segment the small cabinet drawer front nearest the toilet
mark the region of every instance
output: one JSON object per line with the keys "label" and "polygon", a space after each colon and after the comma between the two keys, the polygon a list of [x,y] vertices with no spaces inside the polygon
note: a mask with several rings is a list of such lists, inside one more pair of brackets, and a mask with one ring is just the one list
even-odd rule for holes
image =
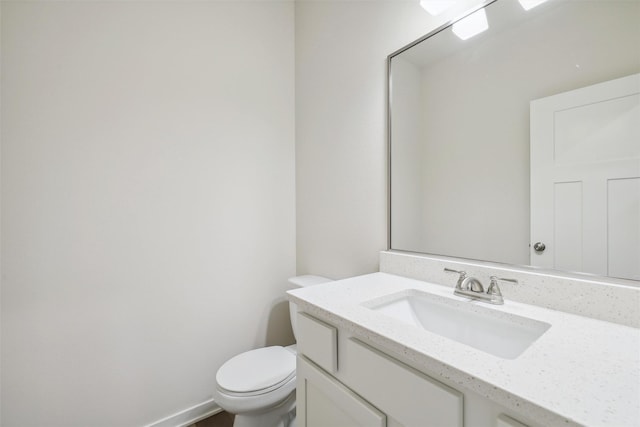
{"label": "small cabinet drawer front nearest the toilet", "polygon": [[306,313],[298,313],[298,353],[327,372],[338,370],[338,330]]}

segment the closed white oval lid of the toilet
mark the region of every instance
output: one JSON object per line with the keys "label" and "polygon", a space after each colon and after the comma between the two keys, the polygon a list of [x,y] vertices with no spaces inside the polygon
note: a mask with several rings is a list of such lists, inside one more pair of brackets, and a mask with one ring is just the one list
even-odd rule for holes
{"label": "closed white oval lid of the toilet", "polygon": [[218,386],[236,393],[273,387],[293,375],[296,357],[284,347],[264,347],[229,359],[216,374]]}

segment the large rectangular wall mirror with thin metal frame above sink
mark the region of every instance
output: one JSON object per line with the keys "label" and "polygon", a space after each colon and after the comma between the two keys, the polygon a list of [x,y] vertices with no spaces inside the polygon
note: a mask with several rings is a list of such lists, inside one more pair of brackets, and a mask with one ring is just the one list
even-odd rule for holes
{"label": "large rectangular wall mirror with thin metal frame above sink", "polygon": [[640,1],[523,3],[389,56],[390,249],[640,280]]}

